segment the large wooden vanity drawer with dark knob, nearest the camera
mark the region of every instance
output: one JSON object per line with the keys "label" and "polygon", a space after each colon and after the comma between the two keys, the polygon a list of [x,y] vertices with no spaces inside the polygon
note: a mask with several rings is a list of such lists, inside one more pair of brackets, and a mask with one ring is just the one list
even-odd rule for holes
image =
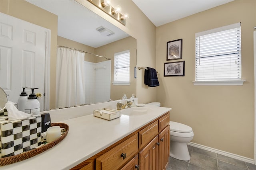
{"label": "large wooden vanity drawer with dark knob, nearest the camera", "polygon": [[96,158],[96,170],[117,170],[138,152],[138,134]]}

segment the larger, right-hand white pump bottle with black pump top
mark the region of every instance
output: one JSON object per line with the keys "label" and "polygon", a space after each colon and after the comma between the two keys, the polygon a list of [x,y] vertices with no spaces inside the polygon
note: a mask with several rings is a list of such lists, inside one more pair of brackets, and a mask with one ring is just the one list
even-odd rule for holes
{"label": "larger, right-hand white pump bottle with black pump top", "polygon": [[37,100],[36,94],[34,94],[35,89],[38,89],[38,88],[31,88],[32,93],[28,97],[24,110],[25,110],[25,113],[40,115],[40,103]]}

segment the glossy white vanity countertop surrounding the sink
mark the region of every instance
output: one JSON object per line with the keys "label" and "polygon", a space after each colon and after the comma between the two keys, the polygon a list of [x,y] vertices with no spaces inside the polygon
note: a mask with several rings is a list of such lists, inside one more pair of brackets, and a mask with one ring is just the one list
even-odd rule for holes
{"label": "glossy white vanity countertop surrounding the sink", "polygon": [[122,115],[111,121],[94,117],[93,114],[60,121],[69,126],[69,132],[58,145],[0,169],[68,170],[171,110],[168,107],[146,107],[151,108],[147,114]]}

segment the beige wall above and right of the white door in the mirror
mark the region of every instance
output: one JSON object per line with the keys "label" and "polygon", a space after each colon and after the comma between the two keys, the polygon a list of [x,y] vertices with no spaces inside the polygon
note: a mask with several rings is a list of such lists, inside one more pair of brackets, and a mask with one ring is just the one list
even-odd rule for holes
{"label": "beige wall above and right of the white door in the mirror", "polygon": [[51,30],[50,52],[50,108],[55,107],[56,45],[58,16],[24,0],[1,0],[0,12]]}

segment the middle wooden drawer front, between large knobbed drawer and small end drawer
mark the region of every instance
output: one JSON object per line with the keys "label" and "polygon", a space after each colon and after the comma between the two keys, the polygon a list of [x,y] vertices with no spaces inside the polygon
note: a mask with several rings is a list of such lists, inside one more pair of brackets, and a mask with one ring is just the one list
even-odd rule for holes
{"label": "middle wooden drawer front, between large knobbed drawer and small end drawer", "polygon": [[139,131],[139,149],[148,144],[156,135],[158,135],[158,121]]}

